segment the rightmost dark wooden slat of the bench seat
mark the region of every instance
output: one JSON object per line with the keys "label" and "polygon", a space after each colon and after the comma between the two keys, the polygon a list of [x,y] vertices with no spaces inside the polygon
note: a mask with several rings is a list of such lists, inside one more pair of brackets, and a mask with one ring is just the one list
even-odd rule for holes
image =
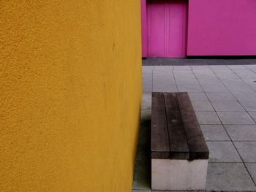
{"label": "rightmost dark wooden slat of the bench seat", "polygon": [[187,93],[176,93],[189,145],[189,160],[208,159],[209,151]]}

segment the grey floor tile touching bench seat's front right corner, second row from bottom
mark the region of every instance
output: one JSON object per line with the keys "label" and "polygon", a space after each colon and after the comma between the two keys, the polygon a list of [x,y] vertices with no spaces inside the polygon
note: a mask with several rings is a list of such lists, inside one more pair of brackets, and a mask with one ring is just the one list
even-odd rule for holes
{"label": "grey floor tile touching bench seat's front right corner, second row from bottom", "polygon": [[232,142],[207,142],[207,145],[210,151],[209,162],[241,162]]}

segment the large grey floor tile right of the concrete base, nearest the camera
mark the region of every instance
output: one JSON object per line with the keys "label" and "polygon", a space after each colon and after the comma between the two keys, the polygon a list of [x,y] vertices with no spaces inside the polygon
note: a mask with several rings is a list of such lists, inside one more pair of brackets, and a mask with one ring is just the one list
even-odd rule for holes
{"label": "large grey floor tile right of the concrete base, nearest the camera", "polygon": [[244,164],[208,164],[207,191],[253,191],[256,190]]}

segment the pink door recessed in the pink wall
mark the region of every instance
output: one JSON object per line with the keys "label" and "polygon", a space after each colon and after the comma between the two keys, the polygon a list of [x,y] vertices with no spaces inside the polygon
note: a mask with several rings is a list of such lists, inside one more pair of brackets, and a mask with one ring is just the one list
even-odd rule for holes
{"label": "pink door recessed in the pink wall", "polygon": [[187,1],[149,1],[148,57],[186,57]]}

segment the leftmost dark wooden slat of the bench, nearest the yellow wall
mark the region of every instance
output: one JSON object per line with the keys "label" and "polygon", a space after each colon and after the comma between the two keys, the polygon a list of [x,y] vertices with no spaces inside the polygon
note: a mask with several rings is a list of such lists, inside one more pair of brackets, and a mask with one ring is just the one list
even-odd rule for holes
{"label": "leftmost dark wooden slat of the bench, nearest the yellow wall", "polygon": [[152,93],[151,158],[169,158],[170,145],[163,93]]}

